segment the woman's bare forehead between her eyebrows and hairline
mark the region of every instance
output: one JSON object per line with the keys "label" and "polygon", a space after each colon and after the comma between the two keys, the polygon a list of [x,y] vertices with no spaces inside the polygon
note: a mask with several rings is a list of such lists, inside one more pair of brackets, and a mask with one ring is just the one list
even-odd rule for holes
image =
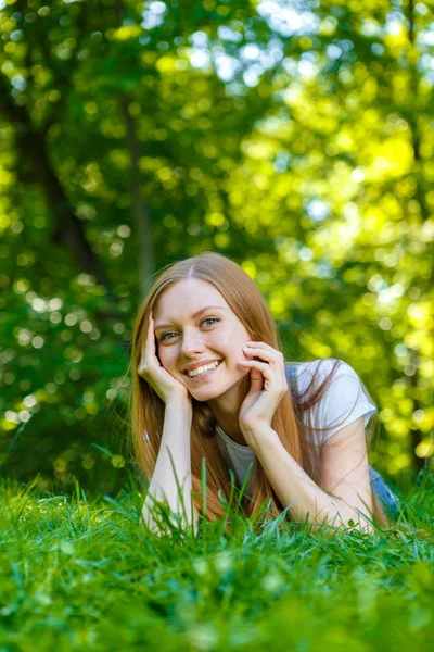
{"label": "woman's bare forehead between her eyebrows and hairline", "polygon": [[206,305],[221,305],[229,310],[220,292],[206,280],[189,278],[170,286],[158,297],[154,313],[155,318],[165,319],[190,316]]}

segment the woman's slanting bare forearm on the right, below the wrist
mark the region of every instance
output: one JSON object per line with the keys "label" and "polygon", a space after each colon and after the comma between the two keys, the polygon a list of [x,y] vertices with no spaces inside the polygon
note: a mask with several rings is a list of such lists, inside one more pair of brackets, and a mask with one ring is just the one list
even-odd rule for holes
{"label": "woman's slanting bare forearm on the right, below the wrist", "polygon": [[285,450],[275,430],[261,432],[257,442],[255,454],[283,507],[291,505],[289,512],[295,521],[304,523],[307,516],[312,530],[319,529],[318,524],[324,518],[334,529],[347,526],[349,519],[360,522],[363,529],[371,529],[356,510],[318,487]]}

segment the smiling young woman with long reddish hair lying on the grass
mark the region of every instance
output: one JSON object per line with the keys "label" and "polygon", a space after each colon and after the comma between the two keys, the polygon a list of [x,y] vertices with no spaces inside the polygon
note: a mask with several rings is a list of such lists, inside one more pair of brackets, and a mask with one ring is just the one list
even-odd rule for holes
{"label": "smiling young woman with long reddish hair lying on the grass", "polygon": [[153,499],[182,513],[182,498],[187,523],[193,499],[196,524],[203,457],[209,519],[225,515],[229,469],[241,487],[253,463],[247,515],[269,499],[267,517],[289,507],[312,529],[387,526],[379,497],[396,502],[368,465],[375,406],[363,385],[340,360],[285,363],[263,296],[234,262],[206,252],[166,268],[139,310],[132,355],[133,449],[150,480],[151,527]]}

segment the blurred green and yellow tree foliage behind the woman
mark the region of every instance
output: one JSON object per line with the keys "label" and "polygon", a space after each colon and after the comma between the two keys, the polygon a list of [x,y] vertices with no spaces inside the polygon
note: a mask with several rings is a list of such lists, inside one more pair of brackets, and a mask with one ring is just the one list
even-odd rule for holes
{"label": "blurred green and yellow tree foliage behind the woman", "polygon": [[356,368],[371,462],[422,468],[430,3],[1,4],[3,475],[123,485],[133,313],[158,268],[212,249],[256,280],[288,360]]}

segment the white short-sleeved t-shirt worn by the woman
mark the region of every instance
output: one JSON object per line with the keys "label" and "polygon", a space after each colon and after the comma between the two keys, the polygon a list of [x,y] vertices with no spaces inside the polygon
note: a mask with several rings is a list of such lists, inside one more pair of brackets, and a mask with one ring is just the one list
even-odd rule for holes
{"label": "white short-sleeved t-shirt worn by the woman", "polygon": [[[298,393],[309,386],[315,371],[319,366],[316,380],[318,387],[328,376],[334,365],[334,360],[314,360],[296,365]],[[328,386],[322,398],[303,415],[306,428],[306,439],[315,442],[320,450],[321,446],[334,432],[353,423],[360,416],[365,416],[365,427],[371,416],[375,413],[375,405],[368,400],[362,390],[360,379],[354,368],[340,360],[340,364],[334,373],[333,379]],[[341,423],[342,422],[342,423]],[[311,428],[327,428],[326,430],[315,431]],[[235,484],[241,488],[248,465],[254,462],[255,454],[248,446],[241,446],[232,441],[230,437],[217,425],[217,441],[229,461],[229,468],[232,468],[235,476]],[[253,468],[247,481],[245,493],[252,497],[253,493]]]}

